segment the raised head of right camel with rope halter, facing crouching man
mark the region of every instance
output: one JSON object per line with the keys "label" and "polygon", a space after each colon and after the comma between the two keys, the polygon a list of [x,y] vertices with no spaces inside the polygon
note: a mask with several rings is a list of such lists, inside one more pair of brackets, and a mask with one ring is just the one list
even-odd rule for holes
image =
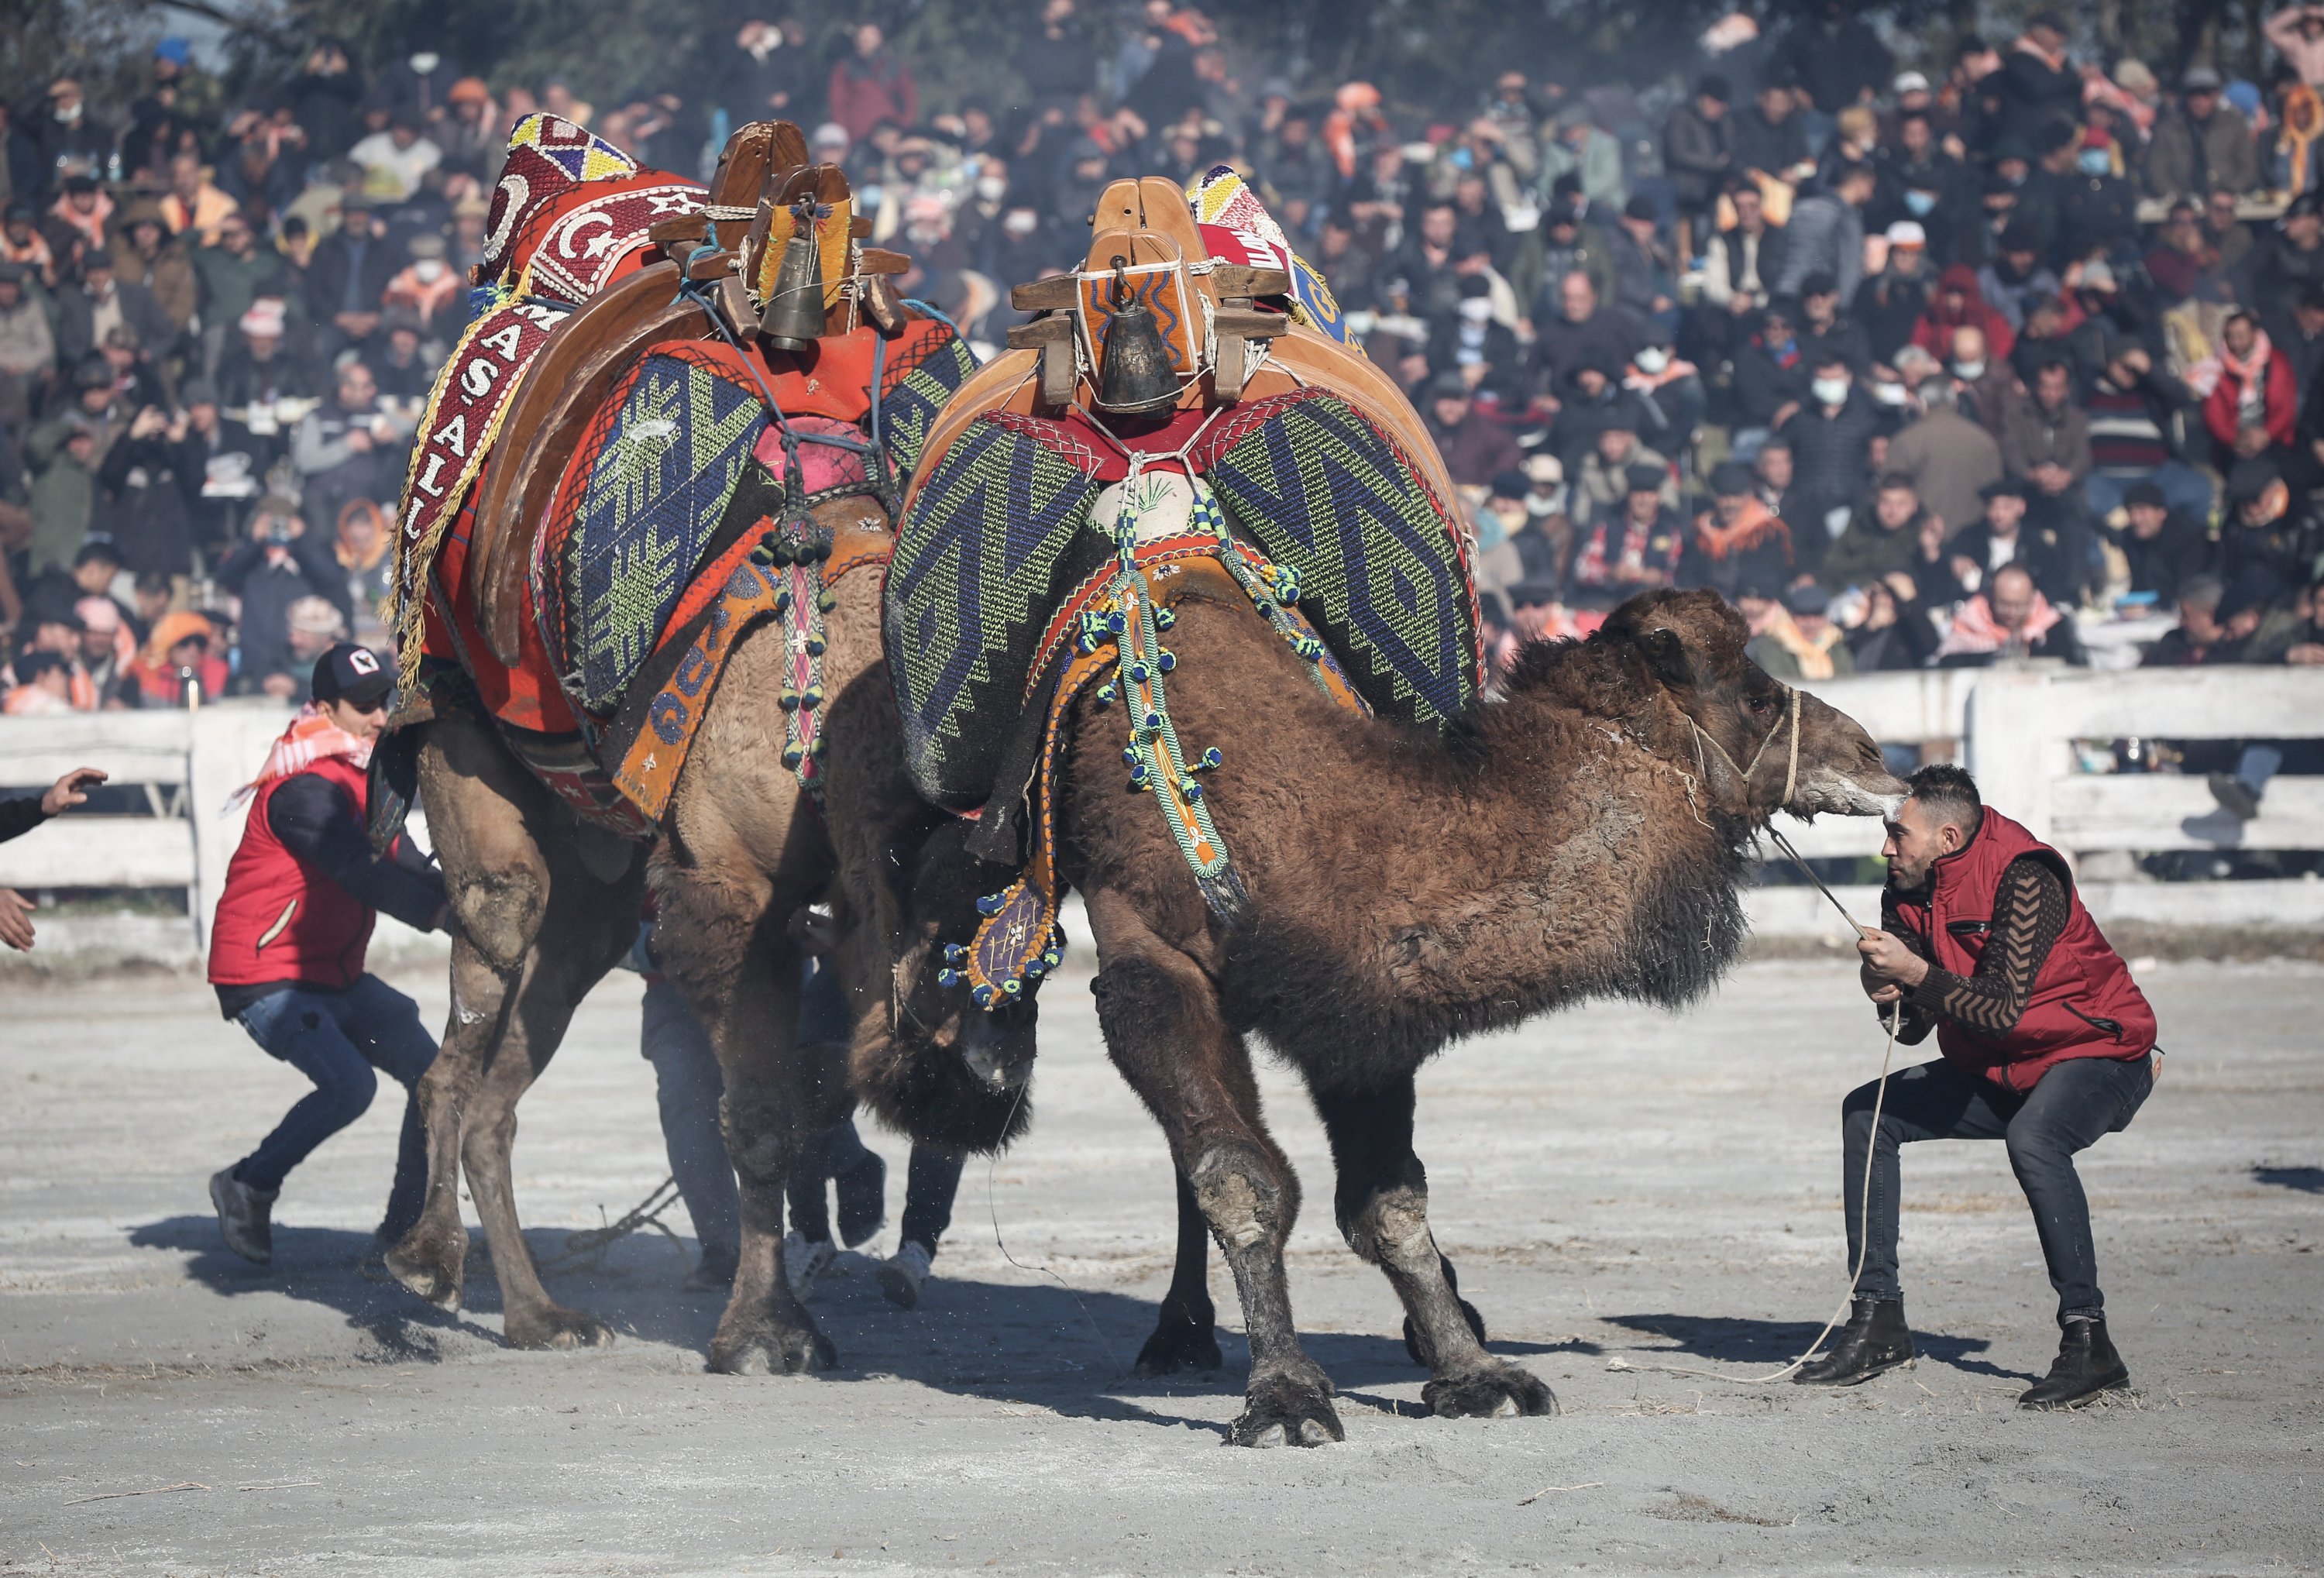
{"label": "raised head of right camel with rope halter, facing crouching man", "polygon": [[1699,732],[1703,772],[1724,811],[1885,816],[1906,786],[1848,713],[1773,681],[1743,646],[1743,616],[1710,590],[1643,593],[1606,618]]}

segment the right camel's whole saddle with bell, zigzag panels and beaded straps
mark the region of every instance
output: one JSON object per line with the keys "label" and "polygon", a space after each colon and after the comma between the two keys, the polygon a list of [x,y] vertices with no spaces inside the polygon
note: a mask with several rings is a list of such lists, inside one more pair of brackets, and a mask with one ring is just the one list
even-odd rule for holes
{"label": "right camel's whole saddle with bell, zigzag panels and beaded straps", "polygon": [[1116,181],[1092,230],[1078,270],[1016,288],[1039,316],[930,428],[885,583],[913,783],[1020,867],[948,955],[988,1009],[1060,951],[1048,783],[1083,688],[1204,899],[1227,923],[1243,904],[1202,797],[1215,755],[1169,718],[1181,600],[1255,609],[1355,711],[1443,727],[1483,688],[1443,458],[1257,198],[1232,170],[1192,202]]}

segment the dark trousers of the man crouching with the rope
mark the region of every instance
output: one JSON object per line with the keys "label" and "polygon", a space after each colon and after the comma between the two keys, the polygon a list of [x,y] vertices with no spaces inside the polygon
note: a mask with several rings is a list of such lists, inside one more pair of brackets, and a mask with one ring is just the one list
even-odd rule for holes
{"label": "dark trousers of the man crouching with the rope", "polygon": [[[1864,1255],[1862,1299],[1903,1297],[1896,1281],[1896,1148],[1915,1139],[1999,1139],[2010,1148],[2010,1171],[2033,1206],[2040,1253],[2057,1287],[2057,1318],[2103,1315],[2099,1253],[2089,1241],[2089,1202],[2073,1171],[2073,1153],[2131,1122],[2154,1088],[2147,1060],[2073,1057],[2052,1067],[2033,1090],[2015,1092],[1945,1060],[1892,1074],[1873,1134],[1880,1083],[1857,1085],[1841,1102],[1845,1139],[1848,1264]],[[1857,1232],[1864,1220],[1864,1167],[1871,1164],[1871,1248]]]}

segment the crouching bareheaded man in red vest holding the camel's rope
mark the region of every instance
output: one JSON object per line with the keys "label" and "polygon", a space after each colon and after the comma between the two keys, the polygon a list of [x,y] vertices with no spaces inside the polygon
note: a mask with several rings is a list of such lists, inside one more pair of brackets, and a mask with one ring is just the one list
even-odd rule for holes
{"label": "crouching bareheaded man in red vest holding the camel's rope", "polygon": [[[2033,1206],[2057,1322],[2050,1376],[2022,1408],[2071,1408],[2129,1385],[2106,1336],[2106,1297],[2089,1202],[2073,1153],[2129,1125],[2154,1088],[2154,1009],[2073,890],[2066,860],[1985,806],[1959,767],[1922,767],[1887,825],[1880,930],[1866,934],[1864,990],[1882,1020],[1901,1004],[1899,1041],[1936,1030],[1938,1062],[1887,1083],[1880,1129],[1862,1085],[1841,1104],[1848,1260],[1864,1276],[1838,1346],[1799,1371],[1806,1385],[1857,1385],[1913,1362],[1896,1281],[1896,1146],[1999,1139]],[[1871,1243],[1859,1243],[1871,1167]]]}

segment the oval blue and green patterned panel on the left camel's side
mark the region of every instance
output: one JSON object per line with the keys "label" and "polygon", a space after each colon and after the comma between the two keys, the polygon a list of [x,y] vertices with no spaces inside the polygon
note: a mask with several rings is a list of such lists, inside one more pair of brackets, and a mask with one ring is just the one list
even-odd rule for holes
{"label": "oval blue and green patterned panel on the left camel's side", "polygon": [[618,704],[653,653],[765,428],[755,388],[667,351],[639,356],[597,409],[558,488],[565,541],[541,576],[590,711]]}

